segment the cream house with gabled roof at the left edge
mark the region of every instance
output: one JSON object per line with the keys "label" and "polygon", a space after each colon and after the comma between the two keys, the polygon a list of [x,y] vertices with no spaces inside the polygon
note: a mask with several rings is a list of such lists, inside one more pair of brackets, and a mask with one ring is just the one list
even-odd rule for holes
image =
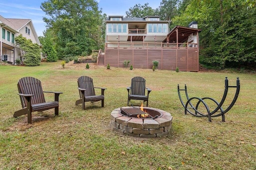
{"label": "cream house with gabled roof at the left edge", "polygon": [[40,45],[32,20],[0,16],[0,61],[14,65],[16,59],[21,59],[20,49],[14,42],[14,38],[20,34]]}

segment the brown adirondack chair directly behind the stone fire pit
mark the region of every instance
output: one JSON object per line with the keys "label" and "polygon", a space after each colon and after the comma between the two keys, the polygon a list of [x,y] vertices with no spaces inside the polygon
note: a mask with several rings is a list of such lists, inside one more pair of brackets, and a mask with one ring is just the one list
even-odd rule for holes
{"label": "brown adirondack chair directly behind the stone fire pit", "polygon": [[[128,91],[128,102],[131,99],[134,100],[143,100],[144,102],[147,101],[148,107],[148,95],[151,92],[150,88],[146,87],[146,80],[143,77],[133,77],[131,82],[131,87],[126,88]],[[145,89],[148,91],[148,95],[145,95]]]}

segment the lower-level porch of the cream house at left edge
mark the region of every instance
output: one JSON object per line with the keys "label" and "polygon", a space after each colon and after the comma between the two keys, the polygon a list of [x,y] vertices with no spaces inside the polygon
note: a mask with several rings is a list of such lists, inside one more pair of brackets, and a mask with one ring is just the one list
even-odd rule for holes
{"label": "lower-level porch of the cream house at left edge", "polygon": [[0,61],[1,62],[7,62],[9,64],[15,64],[15,52],[14,52],[14,47],[6,44],[6,43],[1,43],[0,45],[0,49],[1,49],[1,57],[0,57]]}

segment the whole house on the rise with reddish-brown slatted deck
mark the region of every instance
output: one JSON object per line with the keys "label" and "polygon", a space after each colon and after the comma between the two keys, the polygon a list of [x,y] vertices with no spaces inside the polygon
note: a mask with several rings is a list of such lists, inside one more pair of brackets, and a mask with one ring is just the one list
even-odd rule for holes
{"label": "whole house on the rise with reddish-brown slatted deck", "polygon": [[134,68],[152,69],[152,61],[158,61],[158,69],[198,71],[197,22],[189,27],[176,26],[169,31],[170,21],[160,16],[143,18],[106,18],[106,43],[104,54],[98,57],[98,65],[124,67],[129,60]]}

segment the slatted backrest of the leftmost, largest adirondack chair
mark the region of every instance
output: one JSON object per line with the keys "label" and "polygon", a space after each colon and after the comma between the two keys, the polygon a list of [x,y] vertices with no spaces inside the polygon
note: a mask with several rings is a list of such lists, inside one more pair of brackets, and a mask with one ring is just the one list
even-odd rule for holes
{"label": "slatted backrest of the leftmost, largest adirondack chair", "polygon": [[[34,95],[31,97],[31,104],[45,103],[44,93],[41,85],[41,81],[34,77],[23,77],[18,81],[18,92],[22,94]],[[25,97],[20,96],[20,102],[22,107],[27,107]]]}

